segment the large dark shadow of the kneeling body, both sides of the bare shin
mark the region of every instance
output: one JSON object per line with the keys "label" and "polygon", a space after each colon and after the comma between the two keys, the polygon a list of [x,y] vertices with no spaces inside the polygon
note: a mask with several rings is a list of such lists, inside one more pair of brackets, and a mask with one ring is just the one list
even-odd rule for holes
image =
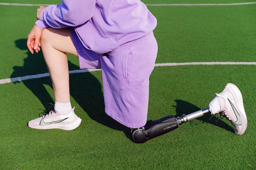
{"label": "large dark shadow of the kneeling body, both sides of the bare shin", "polygon": [[[16,47],[25,51],[27,57],[24,59],[24,66],[13,67],[14,71],[11,78],[48,72],[42,52],[31,54],[26,44],[27,39],[18,39],[15,41]],[[68,64],[69,70],[79,69],[78,66],[71,62],[68,62]],[[31,81],[23,81],[23,83],[40,100],[45,109],[49,109],[50,105],[48,103],[55,102],[53,96],[44,87],[44,85],[52,87],[49,77],[35,79],[32,83]],[[87,115],[91,119],[111,129],[123,131],[127,138],[131,140],[130,129],[105,114],[104,98],[101,89],[101,83],[90,72],[70,74],[70,95],[83,108]],[[44,109],[42,108],[40,110],[43,111]],[[79,116],[79,114],[77,115]]]}

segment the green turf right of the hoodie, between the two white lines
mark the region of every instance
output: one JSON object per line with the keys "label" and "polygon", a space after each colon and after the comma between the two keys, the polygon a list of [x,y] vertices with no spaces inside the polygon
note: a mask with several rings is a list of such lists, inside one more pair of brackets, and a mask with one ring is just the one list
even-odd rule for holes
{"label": "green turf right of the hoodie, between the two white lines", "polygon": [[157,63],[255,60],[255,5],[149,8],[158,19]]}

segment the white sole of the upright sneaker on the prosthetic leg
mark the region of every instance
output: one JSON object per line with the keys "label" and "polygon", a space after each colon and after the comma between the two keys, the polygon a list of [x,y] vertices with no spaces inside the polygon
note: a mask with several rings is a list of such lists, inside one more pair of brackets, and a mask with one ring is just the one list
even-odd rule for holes
{"label": "white sole of the upright sneaker on the prosthetic leg", "polygon": [[228,83],[226,87],[232,92],[232,95],[235,98],[236,105],[238,107],[237,109],[239,110],[239,114],[242,120],[241,132],[238,135],[242,135],[247,128],[247,117],[244,111],[243,97],[239,88],[236,85]]}

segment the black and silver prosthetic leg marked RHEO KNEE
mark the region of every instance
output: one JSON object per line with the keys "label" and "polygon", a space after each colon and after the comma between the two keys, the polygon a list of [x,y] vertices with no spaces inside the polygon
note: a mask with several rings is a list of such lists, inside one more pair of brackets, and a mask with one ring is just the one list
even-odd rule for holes
{"label": "black and silver prosthetic leg marked RHEO KNEE", "polygon": [[188,115],[182,115],[182,117],[175,118],[173,115],[163,117],[159,120],[149,122],[145,126],[139,129],[132,129],[131,135],[136,143],[143,143],[154,137],[163,135],[174,129],[177,129],[179,125],[189,120],[196,119],[198,117],[211,114],[209,107],[204,108],[200,111],[190,113]]}

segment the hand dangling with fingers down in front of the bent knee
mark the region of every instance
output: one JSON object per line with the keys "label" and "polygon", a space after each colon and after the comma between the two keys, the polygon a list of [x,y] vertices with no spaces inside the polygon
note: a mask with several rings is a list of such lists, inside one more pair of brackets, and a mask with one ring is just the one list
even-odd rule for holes
{"label": "hand dangling with fingers down in front of the bent knee", "polygon": [[[29,51],[33,54],[34,51],[38,53],[40,51],[40,38],[42,35],[42,30],[35,24],[28,34],[27,47]],[[34,51],[33,51],[34,50]]]}

